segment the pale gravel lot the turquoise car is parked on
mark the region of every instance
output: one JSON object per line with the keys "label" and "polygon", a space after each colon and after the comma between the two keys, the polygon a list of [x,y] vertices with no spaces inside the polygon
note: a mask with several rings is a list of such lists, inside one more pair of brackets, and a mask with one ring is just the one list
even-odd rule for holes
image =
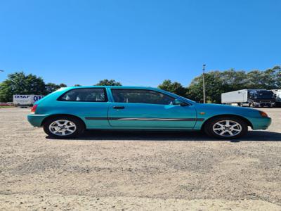
{"label": "pale gravel lot the turquoise car is parked on", "polygon": [[48,139],[0,109],[0,210],[281,210],[281,109],[239,141],[199,132]]}

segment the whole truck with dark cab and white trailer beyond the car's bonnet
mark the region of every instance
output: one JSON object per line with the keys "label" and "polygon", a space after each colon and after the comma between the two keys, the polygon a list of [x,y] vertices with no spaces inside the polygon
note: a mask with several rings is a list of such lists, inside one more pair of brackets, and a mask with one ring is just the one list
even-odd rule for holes
{"label": "whole truck with dark cab and white trailer beyond the car's bonnet", "polygon": [[221,94],[221,103],[249,107],[273,107],[275,98],[273,91],[266,89],[242,89]]}

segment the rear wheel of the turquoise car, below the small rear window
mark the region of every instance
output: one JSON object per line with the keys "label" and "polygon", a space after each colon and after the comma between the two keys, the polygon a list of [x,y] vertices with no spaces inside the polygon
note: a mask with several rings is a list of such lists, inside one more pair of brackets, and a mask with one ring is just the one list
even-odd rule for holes
{"label": "rear wheel of the turquoise car, below the small rear window", "polygon": [[78,118],[57,116],[44,123],[44,132],[56,139],[67,139],[79,136],[84,132],[84,123]]}

